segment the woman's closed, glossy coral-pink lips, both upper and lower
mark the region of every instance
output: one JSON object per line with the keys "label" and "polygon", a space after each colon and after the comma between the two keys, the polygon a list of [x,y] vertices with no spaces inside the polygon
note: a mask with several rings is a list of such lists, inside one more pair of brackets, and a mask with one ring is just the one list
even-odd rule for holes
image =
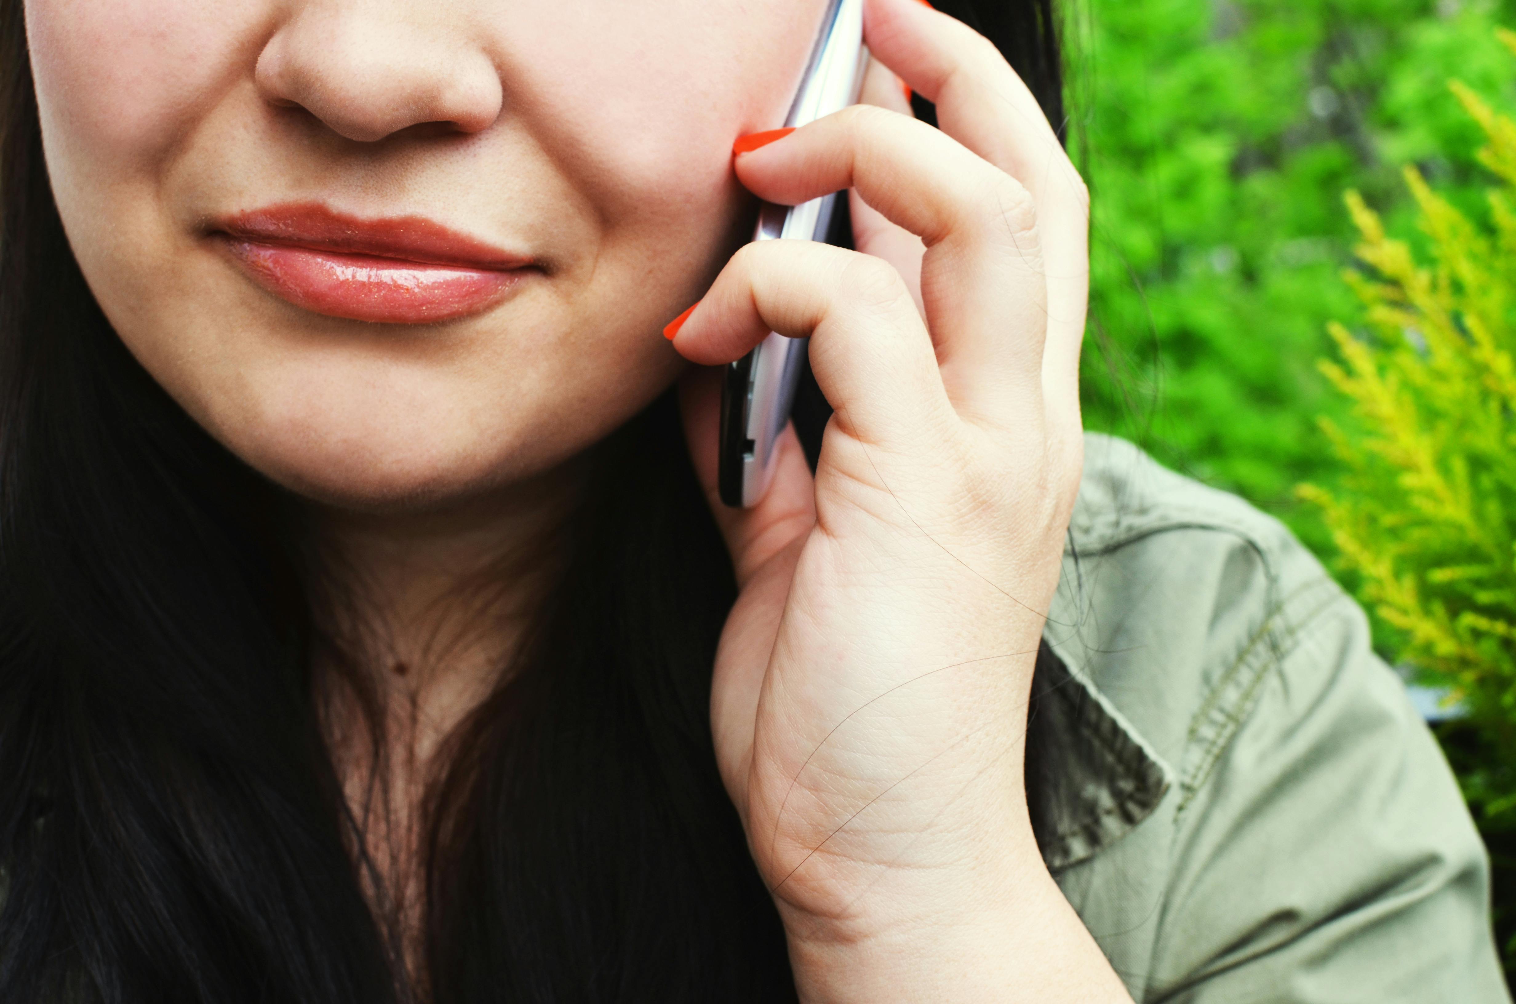
{"label": "woman's closed, glossy coral-pink lips, both upper and lower", "polygon": [[268,293],[317,314],[387,325],[482,312],[534,267],[424,217],[364,220],[318,203],[241,212],[214,232]]}

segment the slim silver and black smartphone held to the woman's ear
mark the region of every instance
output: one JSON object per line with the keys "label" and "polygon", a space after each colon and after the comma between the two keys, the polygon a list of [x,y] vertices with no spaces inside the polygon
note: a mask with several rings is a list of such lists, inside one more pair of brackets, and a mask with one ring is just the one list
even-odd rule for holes
{"label": "slim silver and black smartphone held to the woman's ear", "polygon": [[[800,89],[785,126],[803,126],[858,103],[869,50],[863,44],[863,0],[831,0]],[[832,206],[846,193],[832,193],[799,206],[764,203],[755,241],[826,240]],[[717,487],[731,507],[755,505],[773,479],[773,447],[790,422],[794,387],[805,366],[805,338],[775,332],[726,367],[722,384],[720,466]]]}

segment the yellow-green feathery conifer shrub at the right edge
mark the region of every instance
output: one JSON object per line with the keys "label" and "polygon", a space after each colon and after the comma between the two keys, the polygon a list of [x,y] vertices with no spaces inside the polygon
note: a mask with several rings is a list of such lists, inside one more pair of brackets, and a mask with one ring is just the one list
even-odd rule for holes
{"label": "yellow-green feathery conifer shrub at the right edge", "polygon": [[[1501,33],[1516,52],[1516,35]],[[1405,182],[1428,250],[1386,235],[1357,193],[1348,208],[1367,268],[1346,273],[1366,331],[1331,326],[1322,372],[1354,405],[1322,428],[1345,463],[1317,504],[1381,642],[1448,687],[1487,754],[1464,764],[1481,824],[1516,827],[1516,123],[1454,82],[1484,129],[1498,184],[1474,221],[1420,173]]]}

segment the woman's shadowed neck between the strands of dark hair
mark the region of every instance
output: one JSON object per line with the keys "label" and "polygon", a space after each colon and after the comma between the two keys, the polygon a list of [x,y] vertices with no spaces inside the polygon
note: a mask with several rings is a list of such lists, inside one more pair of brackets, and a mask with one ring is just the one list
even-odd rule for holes
{"label": "woman's shadowed neck between the strands of dark hair", "polygon": [[[500,684],[564,560],[585,463],[449,510],[314,514],[314,679],[377,869],[376,911],[420,963],[421,827],[444,740]],[[359,848],[353,848],[355,852]]]}

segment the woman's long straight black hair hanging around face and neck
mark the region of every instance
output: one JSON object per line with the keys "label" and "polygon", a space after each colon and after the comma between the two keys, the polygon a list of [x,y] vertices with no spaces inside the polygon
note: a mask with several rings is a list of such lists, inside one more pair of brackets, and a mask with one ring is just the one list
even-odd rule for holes
{"label": "woman's long straight black hair hanging around face and neck", "polygon": [[[938,3],[1061,124],[1049,5]],[[299,507],[96,305],[20,0],[0,59],[0,999],[406,998],[312,699]],[[711,749],[735,587],[670,396],[596,452],[561,584],[437,789],[423,996],[793,998]]]}

